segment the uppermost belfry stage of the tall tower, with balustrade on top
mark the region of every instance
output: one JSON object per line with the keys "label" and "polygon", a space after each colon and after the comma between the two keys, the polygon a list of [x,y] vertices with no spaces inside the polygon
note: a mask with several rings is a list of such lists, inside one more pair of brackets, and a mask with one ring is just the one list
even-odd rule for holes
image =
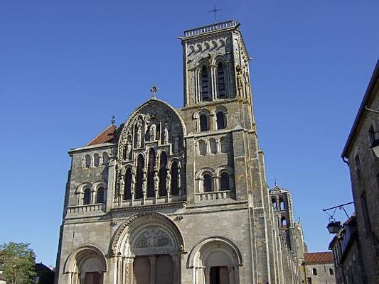
{"label": "uppermost belfry stage of the tall tower, with balustrade on top", "polygon": [[249,57],[236,21],[184,32],[184,106],[251,97]]}

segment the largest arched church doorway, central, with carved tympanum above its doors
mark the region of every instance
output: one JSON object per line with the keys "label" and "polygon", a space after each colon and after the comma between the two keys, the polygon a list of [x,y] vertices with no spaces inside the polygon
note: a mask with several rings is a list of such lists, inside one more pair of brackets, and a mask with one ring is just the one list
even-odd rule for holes
{"label": "largest arched church doorway, central, with carved tympanum above its doors", "polygon": [[112,254],[119,263],[117,283],[181,283],[184,244],[178,226],[164,214],[151,212],[130,217],[116,231]]}

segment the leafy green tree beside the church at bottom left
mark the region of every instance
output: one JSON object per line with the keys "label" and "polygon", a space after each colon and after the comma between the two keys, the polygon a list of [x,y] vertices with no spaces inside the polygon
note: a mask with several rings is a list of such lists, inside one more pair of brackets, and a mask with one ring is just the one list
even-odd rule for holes
{"label": "leafy green tree beside the church at bottom left", "polygon": [[33,283],[36,275],[36,255],[29,245],[14,242],[0,245],[0,271],[3,271],[6,283]]}

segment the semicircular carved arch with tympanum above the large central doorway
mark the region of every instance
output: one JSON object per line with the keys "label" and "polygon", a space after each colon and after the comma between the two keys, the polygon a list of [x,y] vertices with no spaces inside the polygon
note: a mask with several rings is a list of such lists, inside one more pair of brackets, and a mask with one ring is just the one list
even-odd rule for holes
{"label": "semicircular carved arch with tympanum above the large central doorway", "polygon": [[142,212],[125,221],[114,234],[111,256],[181,253],[184,241],[178,226],[158,212]]}

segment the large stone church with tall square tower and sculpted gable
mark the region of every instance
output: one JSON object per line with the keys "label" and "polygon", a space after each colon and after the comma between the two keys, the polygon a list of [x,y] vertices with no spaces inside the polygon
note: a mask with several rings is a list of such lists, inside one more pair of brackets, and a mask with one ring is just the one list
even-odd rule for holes
{"label": "large stone church with tall square tower and sculpted gable", "polygon": [[181,43],[183,107],[153,87],[124,124],[68,152],[55,283],[301,283],[301,226],[287,192],[267,187],[240,23]]}

